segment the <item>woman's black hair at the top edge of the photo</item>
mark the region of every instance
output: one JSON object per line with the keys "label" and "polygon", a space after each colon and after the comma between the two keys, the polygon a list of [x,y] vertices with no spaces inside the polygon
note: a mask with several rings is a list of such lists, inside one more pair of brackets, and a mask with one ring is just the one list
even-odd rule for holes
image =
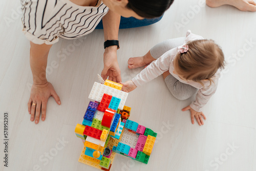
{"label": "woman's black hair at the top edge of the photo", "polygon": [[144,18],[155,18],[163,15],[174,0],[129,0],[127,8]]}

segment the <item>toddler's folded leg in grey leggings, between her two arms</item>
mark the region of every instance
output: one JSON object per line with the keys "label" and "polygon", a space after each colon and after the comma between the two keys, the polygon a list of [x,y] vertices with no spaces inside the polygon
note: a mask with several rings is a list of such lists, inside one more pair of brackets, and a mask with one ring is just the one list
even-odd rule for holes
{"label": "toddler's folded leg in grey leggings, between her two arms", "polygon": [[[164,75],[164,77],[165,76],[166,74]],[[186,100],[189,97],[196,94],[198,91],[197,88],[190,86],[189,84],[180,82],[172,74],[169,74],[168,76],[166,76],[164,81],[170,93],[172,93],[173,96],[179,100]]]}

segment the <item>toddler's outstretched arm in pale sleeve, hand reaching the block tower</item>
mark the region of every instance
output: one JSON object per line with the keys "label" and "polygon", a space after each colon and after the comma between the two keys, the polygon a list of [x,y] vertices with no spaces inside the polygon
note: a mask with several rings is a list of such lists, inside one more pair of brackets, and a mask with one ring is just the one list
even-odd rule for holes
{"label": "toddler's outstretched arm in pale sleeve, hand reaching the block tower", "polygon": [[176,48],[164,53],[157,60],[153,61],[144,70],[137,74],[132,80],[126,81],[123,84],[123,91],[131,92],[144,83],[153,80],[165,71],[169,70],[170,62],[176,54]]}

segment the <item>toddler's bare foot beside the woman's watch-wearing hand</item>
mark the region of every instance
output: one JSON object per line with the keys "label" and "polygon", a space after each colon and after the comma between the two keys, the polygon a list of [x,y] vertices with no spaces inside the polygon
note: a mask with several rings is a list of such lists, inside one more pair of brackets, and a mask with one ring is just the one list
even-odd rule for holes
{"label": "toddler's bare foot beside the woman's watch-wearing hand", "polygon": [[135,69],[139,67],[146,66],[150,64],[152,61],[156,60],[151,56],[150,51],[148,51],[144,56],[139,56],[139,57],[131,57],[128,60],[128,68],[129,69]]}

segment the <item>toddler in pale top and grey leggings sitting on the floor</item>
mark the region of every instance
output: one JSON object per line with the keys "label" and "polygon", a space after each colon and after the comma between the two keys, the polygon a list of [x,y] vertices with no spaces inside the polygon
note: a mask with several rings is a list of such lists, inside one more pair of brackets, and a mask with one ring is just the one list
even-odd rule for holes
{"label": "toddler in pale top and grey leggings sitting on the floor", "polygon": [[130,69],[148,66],[122,83],[123,91],[131,92],[163,74],[166,86],[177,99],[185,100],[197,93],[196,100],[182,111],[190,111],[193,124],[194,117],[199,125],[204,124],[202,117],[206,117],[201,108],[216,92],[220,71],[224,69],[224,54],[213,40],[188,30],[186,37],[163,41],[144,56],[130,58],[128,64]]}

